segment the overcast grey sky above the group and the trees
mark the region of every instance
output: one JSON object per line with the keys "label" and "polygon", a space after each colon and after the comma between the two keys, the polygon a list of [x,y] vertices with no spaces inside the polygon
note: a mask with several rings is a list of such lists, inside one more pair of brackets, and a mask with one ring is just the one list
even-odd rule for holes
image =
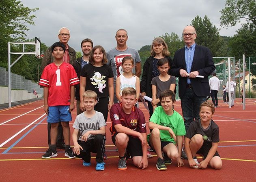
{"label": "overcast grey sky above the group and the trees", "polygon": [[118,29],[128,31],[127,45],[139,50],[164,33],[177,33],[190,25],[197,15],[207,17],[220,28],[221,36],[233,36],[241,27],[220,27],[219,12],[225,0],[21,0],[24,6],[39,8],[35,26],[29,26],[28,38],[39,37],[47,46],[58,41],[58,30],[71,31],[69,46],[81,51],[84,38],[93,40],[106,51],[116,46]]}

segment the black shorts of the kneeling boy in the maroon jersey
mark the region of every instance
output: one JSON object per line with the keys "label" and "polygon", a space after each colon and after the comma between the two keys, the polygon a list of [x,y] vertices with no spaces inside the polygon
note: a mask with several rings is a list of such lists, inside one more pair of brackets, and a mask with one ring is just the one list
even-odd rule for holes
{"label": "black shorts of the kneeling boy in the maroon jersey", "polygon": [[[116,135],[118,134],[118,132],[116,132],[113,136],[112,136],[112,142],[114,143],[114,145],[116,145]],[[134,156],[143,156],[142,153],[142,146],[141,146],[141,142],[139,138],[134,138],[132,136],[129,136],[129,141],[127,144],[127,150],[129,152],[129,154],[131,155],[131,157]]]}

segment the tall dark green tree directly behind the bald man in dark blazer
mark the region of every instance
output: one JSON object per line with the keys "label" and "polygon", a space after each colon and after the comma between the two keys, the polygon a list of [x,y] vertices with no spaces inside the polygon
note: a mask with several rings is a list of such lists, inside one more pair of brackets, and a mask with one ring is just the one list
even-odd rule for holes
{"label": "tall dark green tree directly behind the bald man in dark blazer", "polygon": [[[213,26],[210,19],[205,15],[202,19],[196,16],[191,25],[196,29],[196,43],[202,46],[208,47],[213,56],[224,56],[226,50],[224,50],[224,40],[219,36],[219,29]],[[226,48],[227,49],[227,48]]]}

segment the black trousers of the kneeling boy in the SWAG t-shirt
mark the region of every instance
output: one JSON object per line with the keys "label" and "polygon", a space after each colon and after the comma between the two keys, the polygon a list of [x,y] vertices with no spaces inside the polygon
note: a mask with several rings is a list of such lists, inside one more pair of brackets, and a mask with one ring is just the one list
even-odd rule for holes
{"label": "black trousers of the kneeling boy in the SWAG t-shirt", "polygon": [[103,151],[105,149],[105,136],[102,134],[95,135],[95,138],[88,141],[77,140],[83,148],[80,149],[80,154],[74,154],[76,157],[82,158],[85,162],[90,162],[90,153],[96,153],[96,162],[103,162]]}

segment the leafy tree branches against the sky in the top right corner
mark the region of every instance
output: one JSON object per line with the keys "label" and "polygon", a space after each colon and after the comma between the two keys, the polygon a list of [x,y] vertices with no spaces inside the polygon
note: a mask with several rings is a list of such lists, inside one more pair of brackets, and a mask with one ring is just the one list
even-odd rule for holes
{"label": "leafy tree branches against the sky in the top right corner", "polygon": [[221,11],[220,23],[223,27],[235,26],[245,19],[246,25],[256,27],[256,0],[227,0]]}

